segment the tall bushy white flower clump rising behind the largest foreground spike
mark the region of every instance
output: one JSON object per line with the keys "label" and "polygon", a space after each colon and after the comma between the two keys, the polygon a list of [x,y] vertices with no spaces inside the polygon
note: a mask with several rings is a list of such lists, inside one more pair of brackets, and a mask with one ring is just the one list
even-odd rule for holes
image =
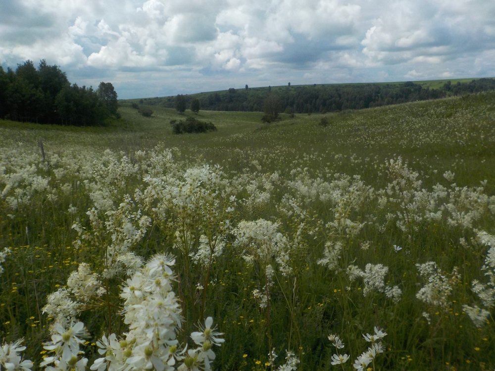
{"label": "tall bushy white flower clump rising behind the largest foreground spike", "polygon": [[157,226],[175,235],[174,248],[202,267],[223,253],[231,228],[228,218],[237,202],[227,195],[228,182],[219,166],[144,180],[148,187],[139,198]]}

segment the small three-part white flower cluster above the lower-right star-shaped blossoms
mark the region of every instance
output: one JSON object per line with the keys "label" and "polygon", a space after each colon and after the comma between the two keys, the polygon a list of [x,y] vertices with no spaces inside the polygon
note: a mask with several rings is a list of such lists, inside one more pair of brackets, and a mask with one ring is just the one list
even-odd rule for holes
{"label": "small three-part white flower cluster above the lower-right star-shaped blossoms", "polygon": [[373,291],[384,293],[394,303],[398,303],[402,295],[402,290],[398,286],[388,286],[385,284],[385,276],[389,272],[389,267],[383,264],[366,264],[364,271],[355,265],[347,267],[347,275],[351,281],[356,278],[363,278],[363,295],[367,296]]}

